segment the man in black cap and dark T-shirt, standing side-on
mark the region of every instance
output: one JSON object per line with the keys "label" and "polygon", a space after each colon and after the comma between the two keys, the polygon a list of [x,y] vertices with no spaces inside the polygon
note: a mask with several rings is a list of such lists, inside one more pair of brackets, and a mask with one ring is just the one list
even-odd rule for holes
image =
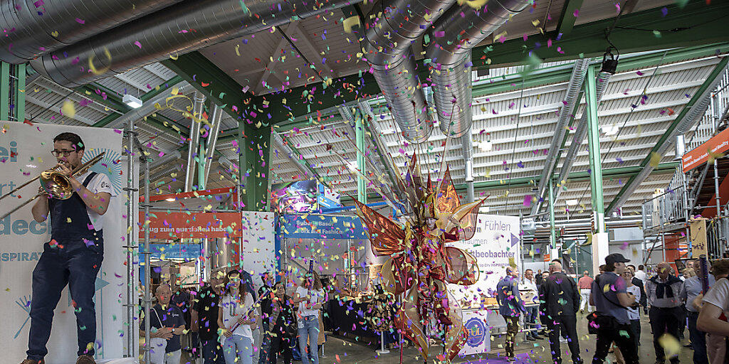
{"label": "man in black cap and dark T-shirt, standing side-on", "polygon": [[604,363],[612,342],[615,342],[623,353],[626,364],[638,364],[635,333],[628,319],[628,310],[625,309],[636,304],[635,296],[625,290],[625,280],[620,277],[628,261],[620,253],[606,256],[604,273],[595,277],[590,289],[590,305],[596,307],[598,314],[597,344],[593,364]]}

